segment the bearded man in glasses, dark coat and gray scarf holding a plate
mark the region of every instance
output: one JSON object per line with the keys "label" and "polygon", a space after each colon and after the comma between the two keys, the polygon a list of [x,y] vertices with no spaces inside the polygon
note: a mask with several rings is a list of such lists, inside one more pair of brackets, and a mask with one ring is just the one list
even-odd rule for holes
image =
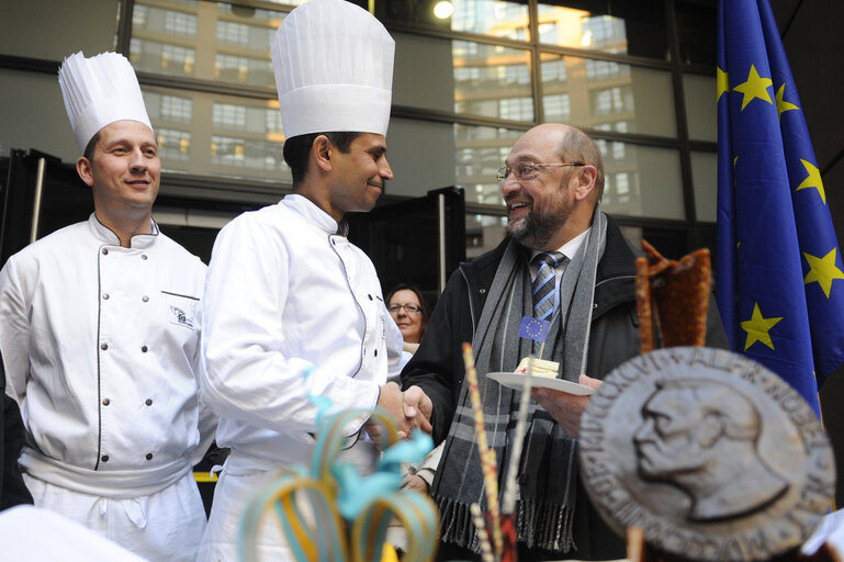
{"label": "bearded man in glasses, dark coat and gray scarf holding a plate", "polygon": [[[635,255],[600,212],[604,167],[593,140],[572,126],[536,126],[514,145],[498,179],[509,236],[452,276],[402,372],[403,386],[418,385],[431,398],[432,436],[446,441],[431,486],[442,518],[440,560],[479,552],[470,505],[485,496],[462,342],[471,341],[475,355],[499,482],[520,393],[486,374],[511,372],[520,358],[538,353],[538,342],[519,337],[524,316],[550,323],[542,358],[556,361],[558,378],[567,381],[595,387],[639,353]],[[588,396],[534,390],[533,397],[542,407],[531,404],[519,462],[519,560],[624,558],[623,540],[597,515],[577,477],[576,439]]]}

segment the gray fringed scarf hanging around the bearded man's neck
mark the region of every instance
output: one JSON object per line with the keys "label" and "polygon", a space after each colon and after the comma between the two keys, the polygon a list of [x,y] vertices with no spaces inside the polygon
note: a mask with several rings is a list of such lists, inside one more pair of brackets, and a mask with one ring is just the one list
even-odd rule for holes
{"label": "gray fringed scarf hanging around the bearded man's neck", "polygon": [[[595,276],[606,241],[607,218],[598,205],[592,225],[563,274],[560,306],[552,316],[543,352],[543,359],[560,362],[562,379],[574,382],[586,372]],[[511,240],[495,272],[472,341],[484,422],[489,447],[496,453],[502,493],[510,463],[508,443],[516,437],[520,393],[487,379],[486,373],[513,372],[522,357],[538,351],[539,344],[519,338],[521,317],[531,315],[532,310],[528,256]],[[564,349],[569,352],[564,353]],[[480,552],[469,506],[477,503],[486,510],[486,499],[468,386],[462,385],[431,496],[440,509],[442,540]],[[519,542],[549,552],[567,552],[575,547],[575,448],[576,440],[531,402],[517,479]]]}

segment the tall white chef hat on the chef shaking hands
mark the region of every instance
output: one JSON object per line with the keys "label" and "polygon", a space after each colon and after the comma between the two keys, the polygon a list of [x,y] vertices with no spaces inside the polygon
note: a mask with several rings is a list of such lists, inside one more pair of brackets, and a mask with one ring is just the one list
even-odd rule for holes
{"label": "tall white chef hat on the chef shaking hands", "polygon": [[345,0],[311,0],[281,22],[272,66],[288,138],[386,134],[395,42],[374,15]]}

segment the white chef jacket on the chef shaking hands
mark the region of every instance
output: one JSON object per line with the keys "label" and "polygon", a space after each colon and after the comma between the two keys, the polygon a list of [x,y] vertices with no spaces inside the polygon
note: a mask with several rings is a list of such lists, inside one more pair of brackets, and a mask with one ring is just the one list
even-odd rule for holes
{"label": "white chef jacket on the chef shaking hands", "polygon": [[310,461],[317,408],[306,390],[335,411],[372,409],[389,369],[409,358],[372,261],[337,226],[292,194],[238,216],[214,244],[203,401],[220,414],[217,443],[265,470]]}

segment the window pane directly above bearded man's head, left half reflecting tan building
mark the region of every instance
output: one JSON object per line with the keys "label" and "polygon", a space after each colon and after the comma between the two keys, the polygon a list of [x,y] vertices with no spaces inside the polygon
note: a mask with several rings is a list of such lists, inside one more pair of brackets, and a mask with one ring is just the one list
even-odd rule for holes
{"label": "window pane directly above bearded man's head, left half reflecting tan building", "polygon": [[677,136],[669,72],[543,53],[540,74],[544,121]]}

